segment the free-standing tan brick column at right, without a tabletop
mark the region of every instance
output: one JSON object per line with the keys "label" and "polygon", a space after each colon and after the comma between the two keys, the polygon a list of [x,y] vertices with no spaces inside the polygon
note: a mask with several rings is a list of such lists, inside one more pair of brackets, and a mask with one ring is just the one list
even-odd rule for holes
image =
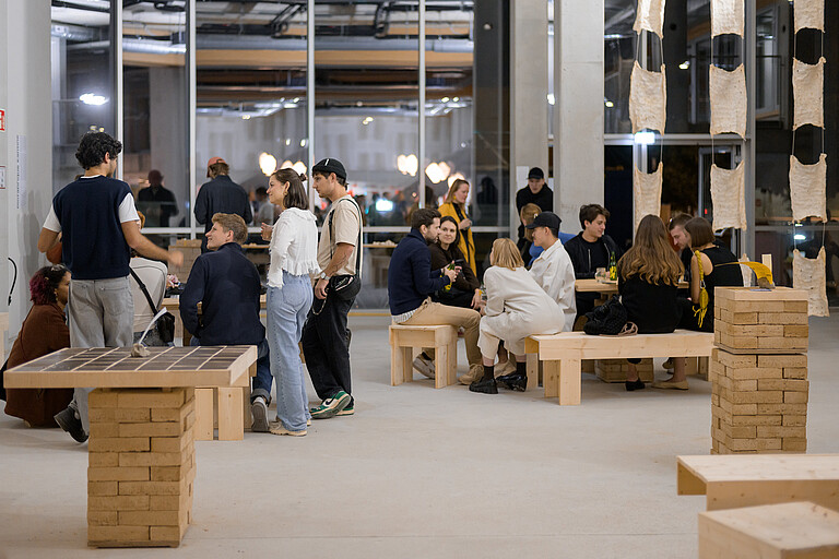
{"label": "free-standing tan brick column at right, without a tabletop", "polygon": [[807,294],[718,287],[711,453],[807,450]]}

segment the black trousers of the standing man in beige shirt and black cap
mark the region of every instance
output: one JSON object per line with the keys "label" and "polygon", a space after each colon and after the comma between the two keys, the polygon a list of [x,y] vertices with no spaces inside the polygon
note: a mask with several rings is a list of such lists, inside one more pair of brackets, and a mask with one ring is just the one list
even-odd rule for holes
{"label": "black trousers of the standing man in beige shirt and black cap", "polygon": [[342,390],[352,394],[350,342],[346,316],[355,298],[343,300],[331,292],[315,297],[303,325],[303,355],[318,397],[327,400]]}

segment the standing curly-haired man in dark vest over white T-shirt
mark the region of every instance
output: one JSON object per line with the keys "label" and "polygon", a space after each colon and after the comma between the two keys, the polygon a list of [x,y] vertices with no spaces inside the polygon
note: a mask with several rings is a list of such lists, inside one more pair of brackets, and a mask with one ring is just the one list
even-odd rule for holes
{"label": "standing curly-haired man in dark vest over white T-shirt", "polygon": [[[105,132],[87,132],[75,158],[84,176],[52,199],[38,237],[47,252],[61,237],[61,261],[72,274],[67,318],[72,347],[125,347],[132,343],[134,305],[128,282],[130,249],[146,258],[184,263],[184,253],[166,251],[145,238],[131,188],[111,178],[122,144]],[[56,423],[79,442],[87,440],[87,394],[75,389],[73,401]]]}

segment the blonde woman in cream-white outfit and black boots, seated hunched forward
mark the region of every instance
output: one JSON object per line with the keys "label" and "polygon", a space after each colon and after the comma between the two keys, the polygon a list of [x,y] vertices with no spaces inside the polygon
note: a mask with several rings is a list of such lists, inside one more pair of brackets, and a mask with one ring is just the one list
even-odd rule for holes
{"label": "blonde woman in cream-white outfit and black boots, seated hunched forward", "polygon": [[504,340],[516,358],[516,372],[501,384],[523,391],[528,385],[524,340],[534,334],[556,334],[565,328],[564,313],[524,267],[516,243],[495,239],[489,253],[492,266],[484,273],[485,316],[481,319],[477,346],[481,348],[483,377],[469,385],[471,392],[497,394],[495,355]]}

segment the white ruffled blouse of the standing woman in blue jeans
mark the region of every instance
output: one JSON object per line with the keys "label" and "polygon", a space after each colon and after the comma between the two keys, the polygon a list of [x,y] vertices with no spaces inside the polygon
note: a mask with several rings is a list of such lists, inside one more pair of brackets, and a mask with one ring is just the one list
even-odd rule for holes
{"label": "white ruffled blouse of the standing woman in blue jeans", "polygon": [[274,224],[269,253],[268,285],[271,287],[283,287],[284,271],[292,275],[320,274],[315,215],[297,207],[284,210]]}

